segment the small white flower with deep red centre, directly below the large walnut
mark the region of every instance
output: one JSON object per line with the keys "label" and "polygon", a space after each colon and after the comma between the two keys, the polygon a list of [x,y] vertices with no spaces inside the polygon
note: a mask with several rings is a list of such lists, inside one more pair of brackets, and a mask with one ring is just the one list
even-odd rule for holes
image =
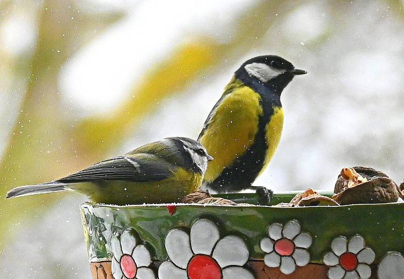
{"label": "small white flower with deep red centre, directly below the large walnut", "polygon": [[365,239],[355,235],[349,239],[339,236],[331,242],[332,252],[324,255],[323,262],[331,266],[328,270],[330,279],[367,279],[371,276],[370,264],[375,260],[375,253],[365,246]]}

